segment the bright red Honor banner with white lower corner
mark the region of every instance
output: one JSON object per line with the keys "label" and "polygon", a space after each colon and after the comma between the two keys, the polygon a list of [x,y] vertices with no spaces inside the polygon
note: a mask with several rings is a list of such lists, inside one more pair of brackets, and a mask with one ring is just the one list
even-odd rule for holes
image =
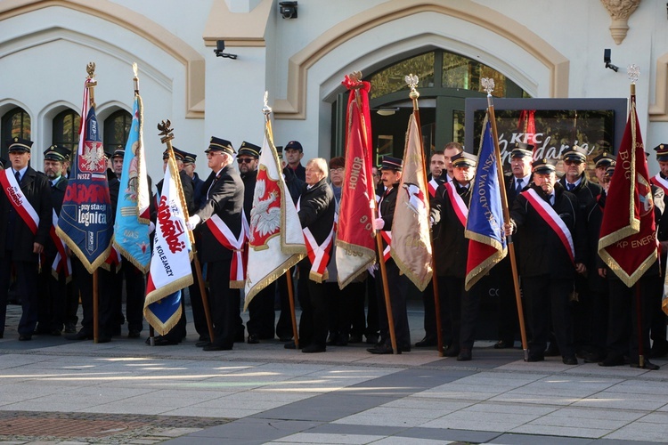
{"label": "bright red Honor banner with white lower corner", "polygon": [[[376,193],[371,180],[371,117],[369,82],[346,76],[350,90],[347,109],[346,176],[338,213],[336,262],[338,287],[346,287],[376,261],[373,209]],[[357,91],[360,99],[355,99]]]}

